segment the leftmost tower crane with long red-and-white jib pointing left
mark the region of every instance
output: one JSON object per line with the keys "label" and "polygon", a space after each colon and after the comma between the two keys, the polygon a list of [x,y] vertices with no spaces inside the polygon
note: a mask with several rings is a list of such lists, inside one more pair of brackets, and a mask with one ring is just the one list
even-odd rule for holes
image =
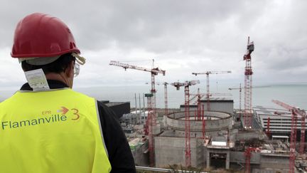
{"label": "leftmost tower crane with long red-and-white jib pointing left", "polygon": [[[154,63],[154,60],[153,60]],[[146,71],[151,73],[151,93],[153,94],[153,97],[151,97],[151,105],[152,105],[152,112],[153,112],[153,121],[154,121],[154,125],[156,125],[156,88],[155,88],[155,75],[163,74],[165,75],[166,70],[161,70],[159,68],[143,68],[143,67],[139,67],[136,65],[129,65],[126,63],[120,63],[119,61],[110,61],[109,65],[115,65],[115,66],[119,66],[124,68],[125,70],[127,68],[131,68],[134,70],[141,70],[141,71]]]}

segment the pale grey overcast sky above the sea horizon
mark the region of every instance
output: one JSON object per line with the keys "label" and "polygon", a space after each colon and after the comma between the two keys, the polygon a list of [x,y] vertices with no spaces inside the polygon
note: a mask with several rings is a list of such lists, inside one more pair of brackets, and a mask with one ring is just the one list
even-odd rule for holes
{"label": "pale grey overcast sky above the sea horizon", "polygon": [[0,88],[26,82],[11,58],[16,23],[42,12],[70,27],[87,63],[75,85],[140,85],[150,74],[109,65],[116,60],[166,70],[156,80],[200,79],[192,72],[232,70],[210,78],[244,83],[247,36],[254,41],[254,83],[306,83],[307,1],[33,1],[2,0]]}

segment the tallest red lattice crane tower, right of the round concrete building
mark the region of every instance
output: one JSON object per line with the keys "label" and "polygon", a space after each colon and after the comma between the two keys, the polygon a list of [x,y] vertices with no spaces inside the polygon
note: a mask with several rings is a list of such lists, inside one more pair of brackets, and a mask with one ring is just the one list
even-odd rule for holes
{"label": "tallest red lattice crane tower, right of the round concrete building", "polygon": [[247,53],[244,55],[245,61],[245,80],[244,80],[244,127],[251,128],[252,126],[252,57],[254,51],[254,42],[247,41]]}

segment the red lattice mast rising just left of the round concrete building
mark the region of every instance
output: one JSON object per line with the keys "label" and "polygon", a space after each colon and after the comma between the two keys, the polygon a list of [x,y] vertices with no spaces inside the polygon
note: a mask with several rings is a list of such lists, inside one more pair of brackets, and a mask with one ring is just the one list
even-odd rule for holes
{"label": "red lattice mast rising just left of the round concrete building", "polygon": [[149,137],[149,165],[151,167],[154,167],[154,134],[153,134],[153,109],[152,109],[152,97],[153,93],[148,93],[145,94],[145,97],[147,98],[147,120],[146,120],[146,126],[147,126],[147,132],[148,132],[148,137]]}

